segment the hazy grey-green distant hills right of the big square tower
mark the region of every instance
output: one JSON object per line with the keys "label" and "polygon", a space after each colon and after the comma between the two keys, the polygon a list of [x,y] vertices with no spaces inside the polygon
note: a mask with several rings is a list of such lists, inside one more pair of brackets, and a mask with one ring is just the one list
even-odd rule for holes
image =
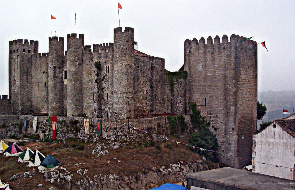
{"label": "hazy grey-green distant hills right of the big square tower", "polygon": [[[265,91],[258,94],[258,101],[265,104],[267,111],[262,121],[274,121],[283,117],[283,109],[294,113],[295,91]],[[288,115],[284,115],[287,117]],[[260,123],[261,121],[258,121]]]}

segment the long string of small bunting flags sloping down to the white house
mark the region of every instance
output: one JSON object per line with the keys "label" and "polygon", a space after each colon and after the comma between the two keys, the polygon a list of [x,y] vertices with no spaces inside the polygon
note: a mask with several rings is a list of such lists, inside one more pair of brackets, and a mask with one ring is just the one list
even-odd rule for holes
{"label": "long string of small bunting flags sloping down to the white house", "polygon": [[132,127],[134,130],[137,130],[138,132],[145,132],[146,134],[151,134],[151,135],[155,135],[157,138],[160,137],[160,138],[163,138],[163,139],[166,139],[166,140],[170,140],[172,142],[176,142],[176,144],[183,144],[183,145],[186,145],[186,146],[190,146],[192,147],[193,149],[195,148],[199,148],[201,151],[209,151],[209,152],[213,152],[213,153],[217,153],[219,155],[222,155],[222,156],[230,156],[230,157],[234,157],[234,158],[238,158],[238,159],[243,159],[243,160],[251,160],[252,163],[261,163],[261,164],[264,164],[266,166],[276,166],[277,168],[281,167],[281,168],[289,168],[290,171],[293,171],[293,168],[290,168],[290,167],[286,167],[286,166],[278,166],[278,165],[275,165],[275,164],[269,164],[269,163],[264,163],[264,162],[259,162],[259,161],[255,161],[255,160],[252,160],[252,159],[248,159],[248,158],[242,158],[242,157],[238,157],[238,156],[234,156],[234,155],[230,155],[230,154],[224,154],[224,153],[220,153],[219,151],[214,151],[214,150],[209,150],[209,149],[206,149],[206,148],[200,148],[200,147],[197,147],[197,146],[193,146],[193,145],[189,145],[189,144],[186,144],[186,143],[183,143],[183,142],[178,142],[176,140],[172,140],[172,139],[169,139],[165,136],[162,136],[162,135],[158,135],[158,134],[155,134],[155,133],[151,133],[151,132],[148,132],[148,131],[145,131],[145,130],[141,130],[137,127],[134,127],[130,124],[127,124],[127,123],[124,123],[124,122],[121,122],[119,119],[116,119],[118,122],[124,124],[124,125],[127,125],[128,127]]}

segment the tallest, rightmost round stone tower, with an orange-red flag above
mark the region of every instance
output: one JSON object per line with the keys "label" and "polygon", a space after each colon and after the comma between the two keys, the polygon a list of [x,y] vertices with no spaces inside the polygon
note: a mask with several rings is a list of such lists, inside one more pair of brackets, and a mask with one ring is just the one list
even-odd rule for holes
{"label": "tallest, rightmost round stone tower, with an orange-red flag above", "polygon": [[114,117],[134,118],[134,30],[114,29]]}

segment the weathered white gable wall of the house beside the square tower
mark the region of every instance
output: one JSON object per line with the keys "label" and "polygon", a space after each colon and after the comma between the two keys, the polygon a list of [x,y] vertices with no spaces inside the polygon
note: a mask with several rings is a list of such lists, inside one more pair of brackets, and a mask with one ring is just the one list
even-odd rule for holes
{"label": "weathered white gable wall of the house beside the square tower", "polygon": [[[276,127],[273,127],[273,124],[274,122],[265,130],[253,135],[252,156],[254,161],[252,162],[252,171],[294,180],[295,138],[285,132],[278,124],[276,124]],[[257,163],[257,161],[274,164],[278,167]]]}

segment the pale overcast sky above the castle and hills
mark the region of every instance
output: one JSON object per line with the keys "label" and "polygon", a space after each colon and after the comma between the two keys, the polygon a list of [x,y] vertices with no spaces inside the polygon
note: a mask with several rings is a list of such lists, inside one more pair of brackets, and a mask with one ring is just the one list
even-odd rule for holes
{"label": "pale overcast sky above the castle and hills", "polygon": [[[120,0],[121,27],[134,28],[138,50],[165,58],[177,71],[184,62],[184,41],[226,34],[251,37],[258,45],[258,92],[295,90],[295,1],[174,1]],[[85,45],[113,42],[119,27],[117,1],[0,0],[0,95],[8,94],[9,40],[39,41],[48,52],[50,14],[53,36],[85,35]]]}

